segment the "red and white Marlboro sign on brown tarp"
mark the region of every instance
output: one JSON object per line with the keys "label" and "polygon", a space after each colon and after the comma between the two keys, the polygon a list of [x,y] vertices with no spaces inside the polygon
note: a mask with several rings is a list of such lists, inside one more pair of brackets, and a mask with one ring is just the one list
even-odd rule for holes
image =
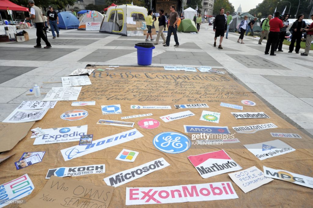
{"label": "red and white Marlboro sign on brown tarp", "polygon": [[242,169],[224,150],[187,157],[203,178]]}

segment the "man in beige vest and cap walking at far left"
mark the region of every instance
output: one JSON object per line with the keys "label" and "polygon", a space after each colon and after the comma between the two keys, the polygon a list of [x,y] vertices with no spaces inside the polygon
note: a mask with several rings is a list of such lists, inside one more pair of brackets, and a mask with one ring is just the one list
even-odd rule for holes
{"label": "man in beige vest and cap walking at far left", "polygon": [[28,0],[28,4],[30,8],[30,17],[27,17],[26,20],[33,19],[36,24],[36,36],[37,36],[37,45],[35,48],[41,48],[41,39],[44,40],[46,46],[44,48],[51,48],[51,44],[49,43],[48,39],[44,35],[43,28],[44,28],[44,17],[42,15],[41,9],[35,6],[35,2],[33,0]]}

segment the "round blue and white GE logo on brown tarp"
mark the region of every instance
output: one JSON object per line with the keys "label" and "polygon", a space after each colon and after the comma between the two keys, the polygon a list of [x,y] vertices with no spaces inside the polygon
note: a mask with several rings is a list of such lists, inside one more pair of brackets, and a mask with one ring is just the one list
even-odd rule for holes
{"label": "round blue and white GE logo on brown tarp", "polygon": [[156,149],[166,153],[182,153],[191,146],[190,139],[177,132],[162,132],[153,139],[153,145]]}

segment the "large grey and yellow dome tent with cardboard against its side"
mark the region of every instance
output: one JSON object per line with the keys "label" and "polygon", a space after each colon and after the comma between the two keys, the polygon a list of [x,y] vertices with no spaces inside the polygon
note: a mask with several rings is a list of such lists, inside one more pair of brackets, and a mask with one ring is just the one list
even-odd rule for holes
{"label": "large grey and yellow dome tent with cardboard against its side", "polygon": [[145,22],[147,16],[145,7],[124,4],[116,7],[109,7],[103,18],[100,32],[107,32],[127,36],[127,17],[132,17],[135,22]]}

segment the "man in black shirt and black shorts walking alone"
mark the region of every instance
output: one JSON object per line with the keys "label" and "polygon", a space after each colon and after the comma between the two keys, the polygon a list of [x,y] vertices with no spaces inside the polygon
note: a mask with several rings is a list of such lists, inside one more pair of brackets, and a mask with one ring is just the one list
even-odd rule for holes
{"label": "man in black shirt and black shorts walking alone", "polygon": [[213,31],[215,32],[214,45],[213,45],[214,47],[216,47],[217,37],[221,36],[219,39],[218,48],[223,49],[222,41],[223,41],[224,33],[226,32],[226,28],[227,28],[227,16],[224,14],[224,8],[221,8],[219,10],[219,14],[216,15],[214,19],[214,25],[213,25]]}

